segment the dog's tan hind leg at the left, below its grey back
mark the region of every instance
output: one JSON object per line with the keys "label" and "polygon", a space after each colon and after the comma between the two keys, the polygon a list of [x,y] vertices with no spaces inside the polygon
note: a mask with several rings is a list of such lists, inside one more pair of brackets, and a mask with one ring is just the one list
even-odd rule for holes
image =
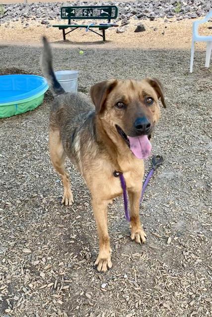
{"label": "dog's tan hind leg at the left, below its grey back", "polygon": [[63,144],[60,138],[60,131],[49,130],[49,150],[52,160],[52,164],[55,167],[56,171],[61,175],[63,185],[64,185],[64,197],[62,203],[66,206],[71,206],[73,203],[73,195],[71,192],[71,184],[68,174],[64,169],[64,162],[66,159],[66,154],[64,152]]}

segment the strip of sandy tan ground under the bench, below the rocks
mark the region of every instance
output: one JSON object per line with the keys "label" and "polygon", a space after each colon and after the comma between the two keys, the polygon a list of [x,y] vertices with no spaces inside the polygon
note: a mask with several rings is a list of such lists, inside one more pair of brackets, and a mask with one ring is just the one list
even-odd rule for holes
{"label": "strip of sandy tan ground under the bench, below the rocks", "polygon": [[[102,38],[93,32],[86,32],[85,29],[79,29],[67,35],[67,42],[64,43],[62,30],[58,28],[46,28],[40,21],[26,21],[29,27],[23,28],[24,24],[21,22],[11,22],[9,25],[2,24],[0,27],[0,43],[7,45],[13,44],[31,44],[40,45],[41,37],[46,35],[55,46],[69,45],[76,47],[98,47],[98,48],[139,48],[139,49],[190,49],[191,47],[191,32],[192,23],[194,19],[176,21],[176,19],[169,19],[169,22],[164,23],[164,19],[157,19],[155,21],[149,20],[135,20],[131,19],[130,24],[126,26],[126,32],[117,34],[117,28],[110,28],[106,30],[106,43],[103,43]],[[85,24],[84,21],[77,21],[77,23]],[[64,24],[63,21],[50,20],[52,25]],[[146,31],[135,33],[138,23],[144,24]],[[66,23],[65,23],[66,24]],[[120,22],[118,23],[120,24]],[[208,29],[211,22],[200,26],[200,35],[211,35],[212,30]],[[98,30],[97,30],[98,31]],[[101,33],[101,31],[98,31]],[[197,43],[197,49],[205,49],[205,43]]]}

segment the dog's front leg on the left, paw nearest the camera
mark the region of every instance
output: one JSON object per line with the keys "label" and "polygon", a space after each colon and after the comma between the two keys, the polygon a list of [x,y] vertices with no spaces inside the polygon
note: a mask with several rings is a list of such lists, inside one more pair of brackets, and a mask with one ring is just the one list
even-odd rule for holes
{"label": "dog's front leg on the left, paw nearest the camera", "polygon": [[95,198],[92,199],[92,207],[99,235],[99,255],[95,265],[97,265],[98,271],[103,272],[112,267],[110,238],[107,228],[107,206],[108,202],[98,201]]}

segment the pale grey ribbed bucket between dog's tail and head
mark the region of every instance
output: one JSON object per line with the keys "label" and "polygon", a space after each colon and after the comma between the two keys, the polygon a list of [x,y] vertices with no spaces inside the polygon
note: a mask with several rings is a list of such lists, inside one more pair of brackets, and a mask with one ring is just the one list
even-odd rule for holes
{"label": "pale grey ribbed bucket between dog's tail and head", "polygon": [[78,71],[77,70],[58,70],[55,72],[55,76],[65,92],[77,93],[78,83]]}

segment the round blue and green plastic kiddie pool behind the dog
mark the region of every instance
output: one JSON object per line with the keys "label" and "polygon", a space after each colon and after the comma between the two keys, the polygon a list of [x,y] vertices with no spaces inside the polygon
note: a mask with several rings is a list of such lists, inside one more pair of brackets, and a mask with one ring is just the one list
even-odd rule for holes
{"label": "round blue and green plastic kiddie pool behind the dog", "polygon": [[0,75],[0,118],[40,106],[48,88],[46,79],[41,76]]}

